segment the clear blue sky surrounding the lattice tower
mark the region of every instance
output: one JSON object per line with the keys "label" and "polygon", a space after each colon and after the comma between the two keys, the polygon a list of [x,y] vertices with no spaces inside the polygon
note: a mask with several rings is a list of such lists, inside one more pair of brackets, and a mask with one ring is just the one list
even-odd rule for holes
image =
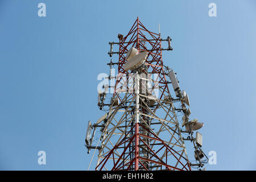
{"label": "clear blue sky surrounding the lattice tower", "polygon": [[[46,17],[38,16],[40,2]],[[208,16],[211,2],[217,17]],[[205,123],[205,153],[217,152],[207,169],[256,169],[253,0],[1,0],[0,169],[88,168],[87,121],[103,114],[97,75],[109,73],[108,42],[127,34],[137,16],[172,38],[163,61],[189,94],[191,117]],[[37,163],[40,150],[46,165]]]}

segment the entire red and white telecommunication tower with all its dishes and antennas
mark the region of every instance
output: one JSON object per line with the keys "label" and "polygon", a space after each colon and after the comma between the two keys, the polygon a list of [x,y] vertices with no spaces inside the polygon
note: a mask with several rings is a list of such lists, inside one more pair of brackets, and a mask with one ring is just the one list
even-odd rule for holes
{"label": "entire red and white telecommunication tower with all its dishes and antennas", "polygon": [[[137,18],[128,34],[118,34],[118,39],[109,43],[108,53],[118,55],[118,61],[108,63],[108,84],[98,93],[98,106],[105,114],[94,124],[89,121],[86,131],[88,153],[94,149],[94,156],[98,150],[95,169],[189,171],[203,167],[208,158],[201,150],[202,135],[193,134],[204,124],[189,120],[188,94],[181,91],[174,70],[163,65],[162,51],[172,50],[170,36],[162,39],[160,28],[159,34],[148,31]],[[168,48],[162,48],[163,41]],[[119,46],[117,52],[114,45]],[[115,66],[117,75],[113,75]],[[174,91],[170,92],[169,85]],[[96,131],[98,139],[94,139]],[[186,140],[193,144],[194,163],[189,160]]]}

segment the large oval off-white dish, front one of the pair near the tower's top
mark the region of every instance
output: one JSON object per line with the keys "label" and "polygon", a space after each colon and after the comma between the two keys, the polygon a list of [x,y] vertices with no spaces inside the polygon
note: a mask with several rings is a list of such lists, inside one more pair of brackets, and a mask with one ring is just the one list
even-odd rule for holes
{"label": "large oval off-white dish, front one of the pair near the tower's top", "polygon": [[138,68],[142,64],[144,64],[145,60],[147,59],[147,52],[141,52],[138,55],[135,55],[129,59],[125,65],[123,65],[123,69],[128,71],[130,69]]}

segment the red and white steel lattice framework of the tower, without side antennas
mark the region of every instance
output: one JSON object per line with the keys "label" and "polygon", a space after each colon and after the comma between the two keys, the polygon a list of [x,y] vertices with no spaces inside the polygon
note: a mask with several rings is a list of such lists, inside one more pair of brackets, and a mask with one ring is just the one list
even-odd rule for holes
{"label": "red and white steel lattice framework of the tower, without side antennas", "polygon": [[[191,170],[161,43],[160,33],[148,31],[139,18],[119,37],[112,102],[104,123],[97,124],[101,143],[96,170]],[[130,47],[148,52],[146,63],[136,71],[123,69]]]}

